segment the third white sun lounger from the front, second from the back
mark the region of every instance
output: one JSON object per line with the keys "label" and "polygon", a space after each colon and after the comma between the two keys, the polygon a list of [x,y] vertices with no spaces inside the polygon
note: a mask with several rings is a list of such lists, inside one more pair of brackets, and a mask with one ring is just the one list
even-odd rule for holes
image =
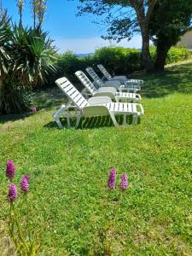
{"label": "third white sun lounger from the front, second from the back", "polygon": [[133,84],[120,84],[119,81],[118,81],[118,83],[119,83],[118,85],[113,84],[113,82],[117,83],[117,81],[107,81],[104,83],[104,82],[102,82],[102,79],[100,79],[100,77],[96,74],[96,72],[93,70],[92,67],[87,67],[86,72],[89,73],[90,77],[94,80],[94,82],[99,87],[115,87],[119,91],[123,91],[123,90],[125,90],[126,92],[133,91],[134,93],[136,93],[138,90],[141,90],[140,85],[135,86]]}

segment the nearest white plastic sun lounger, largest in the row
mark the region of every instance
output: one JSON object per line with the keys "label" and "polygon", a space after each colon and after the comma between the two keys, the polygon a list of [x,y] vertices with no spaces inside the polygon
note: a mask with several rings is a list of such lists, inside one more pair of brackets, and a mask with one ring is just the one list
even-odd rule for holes
{"label": "nearest white plastic sun lounger, largest in the row", "polygon": [[76,127],[78,127],[81,117],[96,117],[103,115],[109,115],[115,126],[119,126],[115,118],[116,115],[123,115],[124,120],[122,125],[129,125],[126,121],[127,115],[132,115],[132,124],[137,124],[138,117],[142,116],[144,113],[143,106],[141,104],[112,102],[108,96],[91,97],[87,101],[67,78],[57,79],[55,83],[69,98],[67,105],[62,105],[61,108],[53,114],[55,122],[60,128],[62,128],[60,121],[61,116],[65,116],[67,118],[67,125],[70,127],[69,118],[72,115],[69,108],[72,103],[75,105],[74,116],[76,117]]}

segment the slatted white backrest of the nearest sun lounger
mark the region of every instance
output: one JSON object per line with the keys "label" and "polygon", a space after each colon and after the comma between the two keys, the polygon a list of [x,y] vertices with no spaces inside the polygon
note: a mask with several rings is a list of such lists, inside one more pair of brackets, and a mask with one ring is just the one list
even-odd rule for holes
{"label": "slatted white backrest of the nearest sun lounger", "polygon": [[84,108],[90,104],[82,96],[82,94],[77,90],[72,83],[69,82],[67,78],[57,79],[55,83],[60,87],[60,89],[67,95],[67,97],[73,101],[73,103],[78,108]]}

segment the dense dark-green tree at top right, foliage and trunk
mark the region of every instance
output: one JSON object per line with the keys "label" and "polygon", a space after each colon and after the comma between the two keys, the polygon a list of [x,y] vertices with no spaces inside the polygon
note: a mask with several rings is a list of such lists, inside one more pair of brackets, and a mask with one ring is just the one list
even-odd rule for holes
{"label": "dense dark-green tree at top right, foliage and trunk", "polygon": [[149,29],[151,39],[157,47],[155,59],[157,70],[164,69],[169,49],[177,44],[179,37],[189,27],[191,17],[191,0],[163,0],[155,5]]}

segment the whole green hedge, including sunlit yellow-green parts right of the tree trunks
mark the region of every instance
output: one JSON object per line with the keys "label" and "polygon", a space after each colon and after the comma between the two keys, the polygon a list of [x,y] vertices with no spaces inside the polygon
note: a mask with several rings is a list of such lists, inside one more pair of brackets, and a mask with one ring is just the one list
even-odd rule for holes
{"label": "whole green hedge, including sunlit yellow-green parts right of the tree trunks", "polygon": [[[150,48],[152,58],[155,58],[155,47]],[[172,47],[167,55],[166,64],[183,61],[191,57],[189,49]],[[54,84],[55,79],[66,76],[72,83],[80,86],[79,80],[74,73],[78,70],[84,71],[86,67],[94,67],[99,75],[102,75],[96,65],[102,63],[108,72],[114,74],[133,73],[143,69],[141,52],[137,49],[124,47],[102,47],[96,49],[94,55],[78,57],[72,51],[67,51],[63,55],[58,55],[58,73],[49,78],[49,84]]]}

